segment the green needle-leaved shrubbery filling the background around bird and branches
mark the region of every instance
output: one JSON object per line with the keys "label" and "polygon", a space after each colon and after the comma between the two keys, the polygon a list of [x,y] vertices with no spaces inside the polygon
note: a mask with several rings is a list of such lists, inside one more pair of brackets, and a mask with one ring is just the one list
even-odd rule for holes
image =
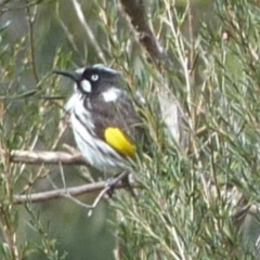
{"label": "green needle-leaved shrubbery filling the background around bird and branches", "polygon": [[[0,259],[258,259],[259,2],[132,0],[164,49],[159,66],[125,2],[0,1]],[[87,167],[14,164],[11,152],[75,146],[63,110],[72,82],[51,72],[95,63],[151,101],[138,199],[116,191],[90,217],[69,198],[16,205],[14,195],[89,180]],[[156,110],[165,88],[166,106],[182,110],[174,140]]]}

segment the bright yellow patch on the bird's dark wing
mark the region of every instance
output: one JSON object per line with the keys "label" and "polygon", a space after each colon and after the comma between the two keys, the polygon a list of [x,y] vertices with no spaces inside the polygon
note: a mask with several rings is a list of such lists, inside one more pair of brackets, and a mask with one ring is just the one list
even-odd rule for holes
{"label": "bright yellow patch on the bird's dark wing", "polygon": [[106,128],[104,135],[105,141],[120,154],[129,157],[133,157],[135,155],[135,145],[130,142],[119,128]]}

